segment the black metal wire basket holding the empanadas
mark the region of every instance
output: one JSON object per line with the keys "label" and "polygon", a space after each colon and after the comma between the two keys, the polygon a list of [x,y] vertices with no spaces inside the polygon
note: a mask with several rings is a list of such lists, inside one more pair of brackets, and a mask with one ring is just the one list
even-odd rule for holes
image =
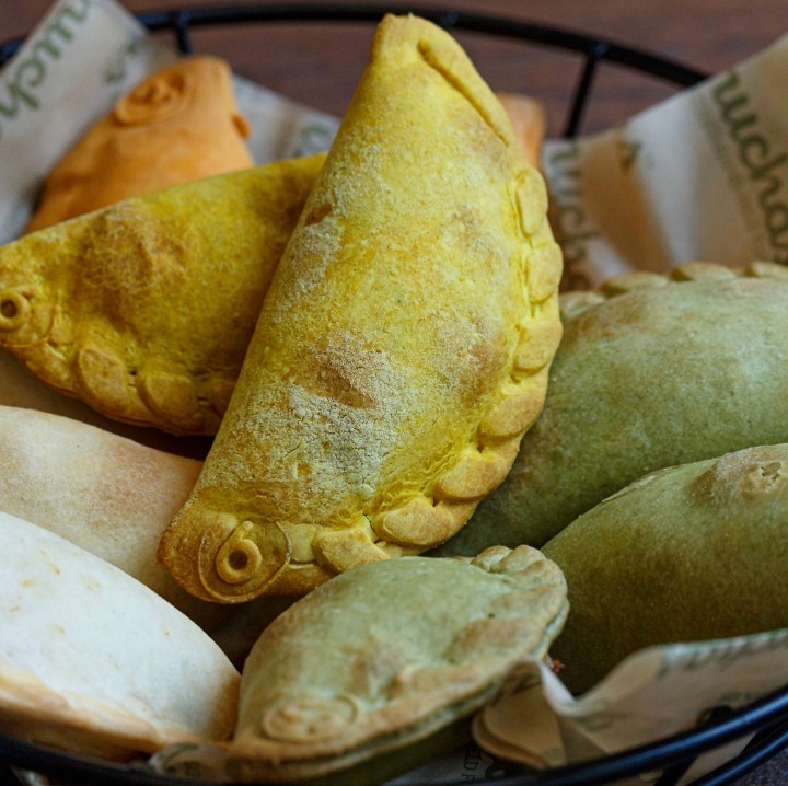
{"label": "black metal wire basket holding the empanadas", "polygon": [[[503,16],[420,5],[265,3],[182,8],[144,12],[136,16],[152,33],[174,36],[178,50],[188,55],[194,50],[192,33],[201,27],[274,22],[376,24],[384,13],[408,12],[418,13],[444,30],[479,33],[577,55],[581,68],[563,122],[565,137],[575,137],[580,131],[586,112],[593,101],[594,78],[601,63],[621,66],[633,73],[647,74],[676,88],[692,86],[707,76],[674,60],[599,36]],[[0,67],[15,54],[22,43],[22,39],[0,43]],[[495,786],[590,786],[659,773],[654,786],[672,786],[679,783],[699,755],[737,740],[746,740],[741,753],[694,781],[693,786],[730,784],[788,747],[788,686],[744,708],[730,710],[718,707],[702,726],[651,744],[543,772],[525,771],[514,765],[502,767],[497,776],[484,783]],[[24,776],[20,774],[22,771],[40,774],[58,786],[205,786],[206,783],[155,775],[135,765],[77,756],[0,733],[0,783],[24,783]]]}

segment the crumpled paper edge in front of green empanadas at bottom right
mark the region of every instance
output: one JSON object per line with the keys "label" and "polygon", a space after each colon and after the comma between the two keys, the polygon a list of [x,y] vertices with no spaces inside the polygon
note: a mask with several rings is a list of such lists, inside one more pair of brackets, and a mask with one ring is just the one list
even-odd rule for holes
{"label": "crumpled paper edge in front of green empanadas at bottom right", "polygon": [[[599,759],[688,731],[788,684],[788,629],[636,652],[573,697],[544,663],[528,663],[474,719],[476,742],[535,768]],[[687,784],[737,755],[750,736],[700,755]],[[642,775],[622,784],[656,781]]]}

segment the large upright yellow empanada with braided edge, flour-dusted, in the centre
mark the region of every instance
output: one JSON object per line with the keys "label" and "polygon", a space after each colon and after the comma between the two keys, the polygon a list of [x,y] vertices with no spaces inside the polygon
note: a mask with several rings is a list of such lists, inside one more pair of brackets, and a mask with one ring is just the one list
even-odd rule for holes
{"label": "large upright yellow empanada with braided edge, flour-dusted, in the centre", "polygon": [[544,401],[561,256],[542,176],[449,34],[386,16],[160,556],[300,594],[456,532]]}

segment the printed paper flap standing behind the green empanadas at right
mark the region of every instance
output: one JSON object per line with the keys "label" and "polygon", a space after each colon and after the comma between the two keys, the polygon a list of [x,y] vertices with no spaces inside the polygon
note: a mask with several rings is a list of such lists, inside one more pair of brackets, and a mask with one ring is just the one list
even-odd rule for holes
{"label": "printed paper flap standing behind the green empanadas at right", "polygon": [[609,131],[548,140],[565,288],[693,259],[788,264],[788,36]]}

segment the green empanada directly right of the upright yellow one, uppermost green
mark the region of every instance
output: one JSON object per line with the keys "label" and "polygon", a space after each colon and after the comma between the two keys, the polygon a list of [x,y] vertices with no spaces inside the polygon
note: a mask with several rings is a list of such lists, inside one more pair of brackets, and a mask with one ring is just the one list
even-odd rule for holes
{"label": "green empanada directly right of the upright yellow one, uppermost green", "polygon": [[437,553],[540,546],[647,472],[788,439],[788,277],[768,263],[743,273],[692,263],[561,296],[572,315],[542,416]]}

